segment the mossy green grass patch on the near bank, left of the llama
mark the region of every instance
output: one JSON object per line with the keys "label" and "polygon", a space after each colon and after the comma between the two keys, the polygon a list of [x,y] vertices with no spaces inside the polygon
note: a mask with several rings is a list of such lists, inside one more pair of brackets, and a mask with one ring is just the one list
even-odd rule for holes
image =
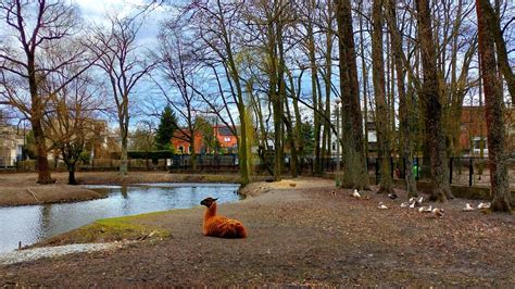
{"label": "mossy green grass patch on the near bank, left of the llama", "polygon": [[168,230],[138,224],[138,221],[143,217],[164,213],[152,212],[133,216],[101,218],[80,228],[51,237],[33,247],[167,238],[171,236]]}

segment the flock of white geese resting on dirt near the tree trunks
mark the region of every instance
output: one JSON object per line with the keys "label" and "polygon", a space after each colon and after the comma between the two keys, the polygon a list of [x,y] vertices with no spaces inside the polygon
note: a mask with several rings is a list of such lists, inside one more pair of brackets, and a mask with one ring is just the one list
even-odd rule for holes
{"label": "flock of white geese resting on dirt near the tree trunks", "polygon": [[[362,197],[361,193],[357,190],[354,190],[351,193],[351,196],[356,198],[356,199],[361,199],[361,198],[366,199],[366,200],[369,199],[368,196]],[[397,196],[395,193],[389,193],[388,198],[394,200],[394,199],[399,198],[399,196]],[[410,198],[410,200],[407,202],[402,202],[401,203],[401,208],[402,209],[416,209],[419,213],[432,214],[436,217],[443,216],[443,209],[436,208],[436,206],[432,208],[432,205],[428,205],[428,206],[422,205],[423,201],[424,201],[424,197],[420,197],[418,199],[417,198]],[[488,203],[488,202],[479,203],[477,205],[477,210],[485,210],[485,209],[489,209],[489,208],[490,208],[490,203]],[[377,209],[388,210],[390,208],[388,208],[385,203],[379,202],[379,205],[377,206]],[[470,203],[466,203],[465,208],[462,209],[462,211],[464,211],[464,212],[472,212],[472,211],[475,211],[475,210],[476,209]]]}

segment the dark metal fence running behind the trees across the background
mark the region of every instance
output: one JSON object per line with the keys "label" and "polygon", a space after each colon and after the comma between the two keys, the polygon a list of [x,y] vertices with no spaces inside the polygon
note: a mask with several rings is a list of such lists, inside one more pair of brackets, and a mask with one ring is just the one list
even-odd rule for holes
{"label": "dark metal fence running behind the trees across the background", "polygon": [[[1,158],[0,158],[1,159]],[[375,176],[376,183],[379,183],[381,175],[379,169],[381,159],[368,158],[367,167],[368,174]],[[388,158],[391,168],[391,176],[393,178],[403,179],[406,169],[405,160],[402,158]],[[424,158],[414,158],[413,174],[417,180],[429,179],[430,177],[430,160]],[[239,160],[237,154],[199,154],[196,156],[196,171],[205,172],[235,172],[238,171]],[[341,167],[343,161],[340,161]],[[2,161],[0,160],[0,163]],[[66,171],[66,166],[62,161],[49,161],[50,167],[53,171]],[[506,161],[508,168],[510,184],[515,186],[515,158]],[[274,158],[268,156],[263,159],[252,158],[250,165],[252,171],[256,174],[266,174],[273,168]],[[290,172],[291,159],[286,155],[284,159],[284,172]],[[311,175],[315,171],[315,160],[313,156],[300,158],[298,163],[298,172],[305,175]],[[321,158],[319,167],[323,173],[334,173],[337,168],[336,158]],[[488,186],[490,184],[489,160],[488,158],[450,158],[449,159],[449,175],[450,184],[467,185],[467,186]],[[93,159],[89,162],[80,162],[77,164],[77,171],[115,171],[120,167],[120,160],[116,159]],[[167,160],[128,160],[129,169],[138,171],[192,171],[192,160],[189,154],[176,154]],[[0,172],[34,172],[36,171],[36,161],[17,161],[15,165],[0,166]]]}

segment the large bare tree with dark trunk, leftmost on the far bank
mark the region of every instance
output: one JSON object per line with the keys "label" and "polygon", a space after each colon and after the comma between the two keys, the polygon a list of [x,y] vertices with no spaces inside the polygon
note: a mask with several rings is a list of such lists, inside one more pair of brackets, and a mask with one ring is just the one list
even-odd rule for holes
{"label": "large bare tree with dark trunk, leftmost on the far bank", "polygon": [[[53,183],[47,159],[42,118],[50,96],[66,87],[92,65],[96,58],[87,53],[87,46],[47,62],[42,53],[56,43],[77,41],[80,17],[75,5],[63,0],[5,0],[0,3],[0,20],[9,33],[9,41],[0,47],[0,71],[3,84],[2,102],[16,108],[30,121],[37,146],[38,183]],[[66,70],[76,65],[78,70]],[[41,89],[52,75],[62,75],[64,81],[52,91]],[[27,93],[28,92],[28,93]],[[28,97],[26,97],[28,95]]]}

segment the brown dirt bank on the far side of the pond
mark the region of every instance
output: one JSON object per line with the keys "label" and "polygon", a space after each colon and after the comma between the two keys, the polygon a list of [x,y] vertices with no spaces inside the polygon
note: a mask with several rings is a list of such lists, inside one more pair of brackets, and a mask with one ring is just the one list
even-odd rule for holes
{"label": "brown dirt bank on the far side of the pond", "polygon": [[[0,206],[55,202],[75,202],[104,196],[80,186],[68,186],[67,173],[53,173],[55,184],[38,185],[36,173],[0,174]],[[123,185],[140,183],[210,181],[238,183],[237,175],[186,175],[166,172],[129,172],[121,177],[117,172],[77,173],[83,185]]]}

